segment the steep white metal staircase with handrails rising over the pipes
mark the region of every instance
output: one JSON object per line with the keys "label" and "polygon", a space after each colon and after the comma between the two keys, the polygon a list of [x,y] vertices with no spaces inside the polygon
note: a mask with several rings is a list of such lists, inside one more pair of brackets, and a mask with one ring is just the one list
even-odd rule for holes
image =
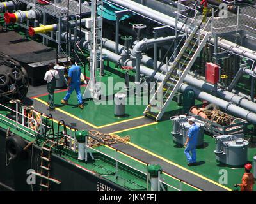
{"label": "steep white metal staircase with handrails rising over the pipes", "polygon": [[[179,54],[177,54],[177,57],[175,57],[175,60],[172,62],[172,65],[168,71],[166,71],[166,69],[162,71],[162,74],[166,72],[164,80],[160,85],[157,85],[159,84],[158,79],[155,86],[150,91],[150,93],[154,94],[144,111],[145,116],[151,117],[158,121],[163,116],[166,108],[168,108],[168,105],[172,101],[173,96],[175,96],[179,86],[182,84],[184,78],[189,72],[189,69],[193,66],[196,58],[200,54],[202,48],[204,47],[211,34],[204,31],[206,24],[204,29],[200,31],[200,25],[199,27],[196,26],[189,34],[184,45],[180,49]],[[157,90],[155,88],[156,85]]]}

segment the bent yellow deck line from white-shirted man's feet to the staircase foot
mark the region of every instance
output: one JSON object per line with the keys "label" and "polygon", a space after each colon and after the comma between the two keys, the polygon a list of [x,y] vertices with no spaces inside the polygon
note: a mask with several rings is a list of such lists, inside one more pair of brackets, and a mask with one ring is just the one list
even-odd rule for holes
{"label": "bent yellow deck line from white-shirted man's feet to the staircase foot", "polygon": [[[45,101],[43,101],[42,99],[39,99],[39,98],[33,98],[33,99],[36,99],[36,101],[39,101],[40,103],[44,103],[44,105],[48,106],[48,104]],[[96,128],[96,129],[105,128],[105,127],[108,127],[108,126],[113,126],[115,124],[122,124],[124,122],[129,122],[129,121],[132,121],[132,120],[142,119],[144,117],[144,116],[134,117],[133,119],[127,119],[127,120],[122,120],[122,121],[119,121],[119,122],[113,122],[113,123],[106,124],[106,125],[103,125],[103,126],[95,126],[92,123],[87,122],[86,120],[80,119],[79,117],[76,117],[75,115],[72,115],[71,113],[66,112],[65,110],[61,110],[60,108],[55,108],[55,109],[60,111],[61,113],[64,113],[64,114],[76,119],[76,120],[79,120],[80,122],[83,122],[84,124],[88,124],[89,126],[92,126],[93,128]]]}

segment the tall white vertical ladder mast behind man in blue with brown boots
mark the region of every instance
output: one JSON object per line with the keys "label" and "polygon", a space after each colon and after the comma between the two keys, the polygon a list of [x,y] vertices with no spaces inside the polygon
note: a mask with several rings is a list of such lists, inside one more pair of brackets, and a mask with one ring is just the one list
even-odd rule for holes
{"label": "tall white vertical ladder mast behind man in blue with brown boots", "polygon": [[[100,66],[100,73],[102,71],[102,24],[103,24],[103,1],[102,0],[92,0],[91,4],[91,18],[93,20],[93,25],[91,28],[92,41],[90,43],[90,80],[84,91],[83,99],[87,98],[97,98],[97,93],[99,93],[99,85],[97,86],[95,72],[97,71],[97,66]],[[101,77],[99,75],[99,83],[101,82]]]}

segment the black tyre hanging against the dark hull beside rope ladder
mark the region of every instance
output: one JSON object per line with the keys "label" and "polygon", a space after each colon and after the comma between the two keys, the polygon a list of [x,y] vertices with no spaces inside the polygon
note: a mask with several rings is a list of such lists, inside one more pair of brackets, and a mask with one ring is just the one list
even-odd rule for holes
{"label": "black tyre hanging against the dark hull beside rope ladder", "polygon": [[25,141],[20,136],[9,136],[6,140],[6,153],[13,161],[20,161],[26,158]]}

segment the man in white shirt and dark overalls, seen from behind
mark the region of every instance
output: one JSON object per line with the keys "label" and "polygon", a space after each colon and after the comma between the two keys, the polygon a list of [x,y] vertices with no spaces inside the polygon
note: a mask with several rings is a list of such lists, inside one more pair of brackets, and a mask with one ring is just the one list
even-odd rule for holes
{"label": "man in white shirt and dark overalls, seen from behind", "polygon": [[47,91],[49,92],[48,105],[50,110],[55,109],[54,105],[54,89],[56,87],[56,80],[60,78],[58,71],[54,69],[55,64],[50,63],[48,65],[49,71],[45,73],[44,80],[47,82]]}

